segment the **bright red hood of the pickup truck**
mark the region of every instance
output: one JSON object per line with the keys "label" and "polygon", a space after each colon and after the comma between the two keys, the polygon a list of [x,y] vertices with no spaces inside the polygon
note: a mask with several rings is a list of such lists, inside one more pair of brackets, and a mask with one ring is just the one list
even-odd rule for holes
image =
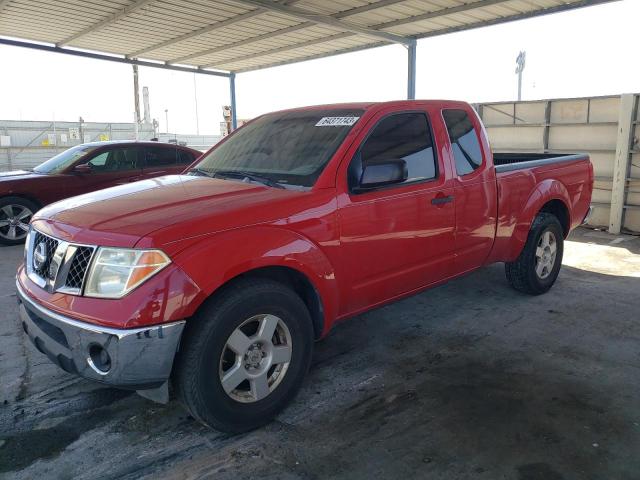
{"label": "bright red hood of the pickup truck", "polygon": [[77,243],[133,247],[145,237],[145,246],[162,247],[282,218],[289,214],[283,210],[291,205],[288,200],[306,194],[235,180],[171,175],[62,200],[40,210],[34,225]]}

